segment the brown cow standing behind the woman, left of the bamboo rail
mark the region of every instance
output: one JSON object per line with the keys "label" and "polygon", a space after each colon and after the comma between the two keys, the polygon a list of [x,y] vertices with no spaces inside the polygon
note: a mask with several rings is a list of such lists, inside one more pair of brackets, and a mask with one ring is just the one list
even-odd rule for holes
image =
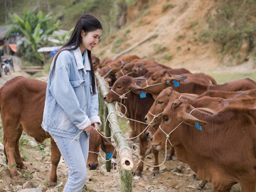
{"label": "brown cow standing behind the woman, left of the bamboo rail", "polygon": [[[57,184],[57,166],[60,161],[60,151],[48,132],[41,128],[43,120],[43,109],[46,100],[46,82],[23,77],[16,77],[6,82],[0,89],[1,120],[4,131],[4,147],[11,178],[17,178],[18,168],[25,169],[18,149],[18,142],[22,132],[42,143],[46,138],[50,138],[51,146],[51,171],[50,185]],[[95,136],[95,133],[92,133]],[[92,137],[92,136],[90,136]],[[99,151],[100,143],[106,152],[113,151],[110,144],[105,139],[97,136],[90,139],[90,150]],[[89,163],[97,162],[91,153],[88,156]],[[90,163],[94,164],[94,163]]]}

